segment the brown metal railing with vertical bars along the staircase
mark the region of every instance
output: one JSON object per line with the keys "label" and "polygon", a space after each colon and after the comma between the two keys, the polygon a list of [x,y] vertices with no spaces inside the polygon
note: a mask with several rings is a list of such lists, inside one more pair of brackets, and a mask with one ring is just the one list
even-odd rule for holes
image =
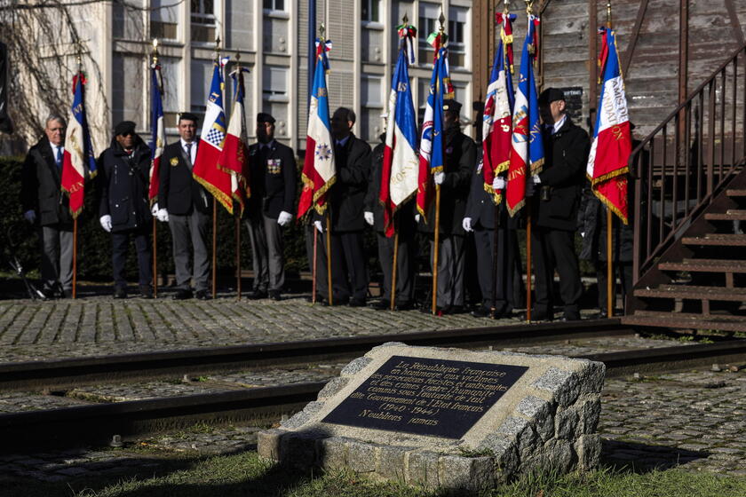
{"label": "brown metal railing with vertical bars along the staircase", "polygon": [[746,44],[632,150],[635,282],[742,167],[744,123]]}

